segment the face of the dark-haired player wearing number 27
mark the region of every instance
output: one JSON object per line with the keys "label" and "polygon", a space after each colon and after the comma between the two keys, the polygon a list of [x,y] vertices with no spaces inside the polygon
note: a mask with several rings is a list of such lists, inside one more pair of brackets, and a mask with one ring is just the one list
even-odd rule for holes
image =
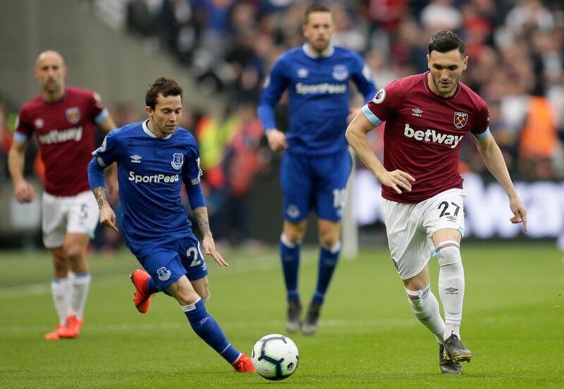
{"label": "face of the dark-haired player wearing number 27", "polygon": [[431,70],[431,89],[441,97],[454,94],[462,72],[466,70],[468,56],[462,56],[458,49],[440,53],[433,50],[427,54],[429,70]]}

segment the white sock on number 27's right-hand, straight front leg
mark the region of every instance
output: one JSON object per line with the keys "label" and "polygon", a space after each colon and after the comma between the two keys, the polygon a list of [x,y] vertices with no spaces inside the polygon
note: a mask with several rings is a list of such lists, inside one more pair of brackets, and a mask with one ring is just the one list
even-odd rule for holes
{"label": "white sock on number 27's right-hand, straight front leg", "polygon": [[460,338],[462,322],[462,302],[464,300],[464,268],[462,261],[442,265],[439,269],[439,296],[445,311],[445,333],[448,338],[453,333]]}

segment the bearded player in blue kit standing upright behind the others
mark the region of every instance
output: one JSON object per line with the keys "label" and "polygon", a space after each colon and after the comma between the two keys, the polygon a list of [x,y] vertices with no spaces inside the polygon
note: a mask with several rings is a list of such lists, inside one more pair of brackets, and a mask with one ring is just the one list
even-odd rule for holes
{"label": "bearded player in blue kit standing upright behind the others", "polygon": [[[264,83],[258,113],[270,148],[286,150],[281,164],[284,223],[280,239],[288,299],[286,330],[294,333],[301,326],[302,333],[312,335],[341,251],[341,214],[352,166],[345,139],[349,83],[355,82],[366,101],[374,97],[376,89],[358,54],[331,45],[335,26],[329,8],[309,6],[302,30],[307,42],[276,61]],[[274,107],[285,89],[290,101],[286,133],[274,121]],[[312,207],[319,217],[319,274],[302,323],[300,242]]]}

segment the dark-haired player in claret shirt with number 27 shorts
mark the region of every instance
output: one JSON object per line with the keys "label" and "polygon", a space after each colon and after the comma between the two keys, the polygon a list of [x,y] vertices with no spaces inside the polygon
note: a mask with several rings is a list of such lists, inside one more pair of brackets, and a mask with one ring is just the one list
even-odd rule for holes
{"label": "dark-haired player in claret shirt with number 27 shorts", "polygon": [[[512,223],[523,223],[526,209],[489,132],[486,102],[460,82],[468,57],[455,33],[436,32],[427,48],[429,72],[396,80],[379,90],[348,126],[346,137],[382,185],[384,222],[391,258],[407,300],[439,342],[439,366],[462,373],[460,362],[474,356],[460,341],[464,269],[465,192],[458,169],[463,137],[471,133],[482,159],[509,197]],[[386,122],[384,165],[367,133]],[[430,289],[428,261],[439,262],[439,302]]]}

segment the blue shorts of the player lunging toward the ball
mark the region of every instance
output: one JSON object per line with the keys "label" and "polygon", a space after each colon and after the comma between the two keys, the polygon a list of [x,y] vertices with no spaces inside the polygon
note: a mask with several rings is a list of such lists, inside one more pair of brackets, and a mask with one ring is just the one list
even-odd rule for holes
{"label": "blue shorts of the player lunging toward the ball", "polygon": [[160,290],[165,290],[184,275],[191,281],[207,276],[200,242],[193,234],[168,244],[135,247],[131,252]]}

